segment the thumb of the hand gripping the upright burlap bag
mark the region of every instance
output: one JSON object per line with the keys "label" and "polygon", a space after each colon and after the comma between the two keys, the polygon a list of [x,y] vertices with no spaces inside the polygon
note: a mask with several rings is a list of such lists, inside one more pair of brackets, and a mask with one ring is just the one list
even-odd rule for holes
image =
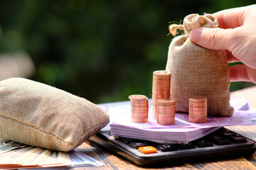
{"label": "thumb of the hand gripping the upright burlap bag", "polygon": [[231,29],[195,28],[189,33],[192,42],[210,50],[228,50]]}

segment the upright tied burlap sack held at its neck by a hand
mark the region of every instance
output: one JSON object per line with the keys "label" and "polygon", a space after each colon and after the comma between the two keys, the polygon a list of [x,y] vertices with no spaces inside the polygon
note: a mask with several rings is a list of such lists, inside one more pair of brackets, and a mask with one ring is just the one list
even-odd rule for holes
{"label": "upright tied burlap sack held at its neck by a hand", "polygon": [[171,72],[171,99],[176,111],[188,113],[188,98],[206,96],[208,114],[230,116],[230,79],[224,50],[208,50],[189,40],[193,28],[217,28],[217,18],[209,14],[191,14],[182,25],[169,27],[171,33],[184,29],[185,35],[176,36],[169,46],[166,71]]}

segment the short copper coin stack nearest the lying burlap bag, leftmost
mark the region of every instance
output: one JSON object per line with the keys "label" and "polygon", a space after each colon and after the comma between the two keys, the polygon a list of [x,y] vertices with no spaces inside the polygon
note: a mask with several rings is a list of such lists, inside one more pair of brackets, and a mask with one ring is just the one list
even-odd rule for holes
{"label": "short copper coin stack nearest the lying burlap bag, leftmost", "polygon": [[131,121],[134,123],[146,123],[149,115],[149,99],[140,94],[130,95]]}

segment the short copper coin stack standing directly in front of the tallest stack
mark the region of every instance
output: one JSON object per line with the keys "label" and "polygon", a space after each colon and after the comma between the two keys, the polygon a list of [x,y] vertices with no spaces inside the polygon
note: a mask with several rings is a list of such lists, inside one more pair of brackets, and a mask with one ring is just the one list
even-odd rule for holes
{"label": "short copper coin stack standing directly in front of the tallest stack", "polygon": [[157,101],[157,124],[174,125],[175,123],[175,101],[159,99]]}

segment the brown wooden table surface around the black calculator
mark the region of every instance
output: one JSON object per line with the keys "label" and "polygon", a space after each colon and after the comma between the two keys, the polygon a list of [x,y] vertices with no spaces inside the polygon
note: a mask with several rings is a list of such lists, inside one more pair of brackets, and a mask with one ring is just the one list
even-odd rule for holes
{"label": "brown wooden table surface around the black calculator", "polygon": [[[246,98],[249,101],[250,108],[256,108],[256,86],[235,91],[231,93],[231,96],[233,98]],[[228,128],[240,133],[241,135],[245,135],[252,140],[256,140],[256,125],[233,126]],[[210,162],[202,160],[202,162],[196,162],[193,164],[184,163],[175,166],[163,165],[161,167],[142,168],[118,157],[117,155],[100,149],[90,142],[84,142],[79,147],[79,150],[105,164],[105,166],[85,167],[82,169],[256,169],[256,154],[252,154],[248,157],[237,157],[235,159],[221,159]]]}

